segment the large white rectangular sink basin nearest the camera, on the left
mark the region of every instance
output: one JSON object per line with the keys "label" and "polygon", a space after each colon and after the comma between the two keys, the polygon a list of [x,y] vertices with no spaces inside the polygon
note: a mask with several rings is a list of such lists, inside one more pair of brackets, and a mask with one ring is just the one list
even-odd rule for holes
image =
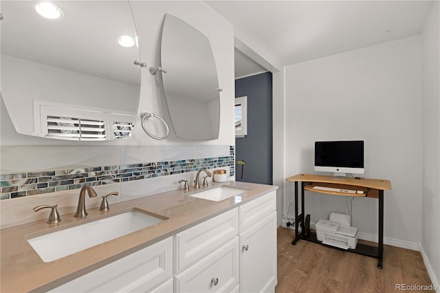
{"label": "large white rectangular sink basin nearest the camera, on the left", "polygon": [[45,263],[67,257],[100,243],[160,223],[168,219],[134,208],[104,219],[78,224],[38,237],[28,236],[28,242]]}

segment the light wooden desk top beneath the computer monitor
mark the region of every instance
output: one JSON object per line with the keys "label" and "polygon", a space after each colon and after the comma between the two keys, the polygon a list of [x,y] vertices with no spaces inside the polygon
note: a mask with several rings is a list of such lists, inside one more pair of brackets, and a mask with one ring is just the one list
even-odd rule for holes
{"label": "light wooden desk top beneath the computer monitor", "polygon": [[382,179],[354,179],[349,177],[333,177],[315,174],[298,174],[286,179],[293,182],[322,182],[333,184],[346,184],[353,186],[361,186],[366,188],[380,189],[383,191],[391,190],[390,180]]}

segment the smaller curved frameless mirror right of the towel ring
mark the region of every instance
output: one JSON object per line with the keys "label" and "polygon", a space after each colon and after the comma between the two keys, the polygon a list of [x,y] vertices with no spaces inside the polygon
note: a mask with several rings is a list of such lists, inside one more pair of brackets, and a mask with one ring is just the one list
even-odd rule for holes
{"label": "smaller curved frameless mirror right of the towel ring", "polygon": [[166,14],[161,44],[166,105],[178,138],[219,138],[220,95],[211,45],[191,25]]}

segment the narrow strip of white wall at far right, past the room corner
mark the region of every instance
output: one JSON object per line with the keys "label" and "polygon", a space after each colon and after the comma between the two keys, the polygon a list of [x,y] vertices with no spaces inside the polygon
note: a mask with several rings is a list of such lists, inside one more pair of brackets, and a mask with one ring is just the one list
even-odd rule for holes
{"label": "narrow strip of white wall at far right, past the room corner", "polygon": [[[435,1],[421,35],[422,197],[421,246],[431,279],[440,281],[440,21]],[[425,256],[424,255],[424,256]],[[431,271],[430,271],[431,270]],[[434,276],[433,276],[434,274]]]}

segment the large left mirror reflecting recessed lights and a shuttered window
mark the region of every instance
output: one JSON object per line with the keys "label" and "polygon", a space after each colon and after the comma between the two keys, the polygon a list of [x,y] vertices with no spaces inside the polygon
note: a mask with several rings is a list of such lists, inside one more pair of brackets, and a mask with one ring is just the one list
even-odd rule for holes
{"label": "large left mirror reflecting recessed lights and a shuttered window", "polygon": [[1,1],[1,96],[17,132],[129,138],[140,94],[128,1]]}

